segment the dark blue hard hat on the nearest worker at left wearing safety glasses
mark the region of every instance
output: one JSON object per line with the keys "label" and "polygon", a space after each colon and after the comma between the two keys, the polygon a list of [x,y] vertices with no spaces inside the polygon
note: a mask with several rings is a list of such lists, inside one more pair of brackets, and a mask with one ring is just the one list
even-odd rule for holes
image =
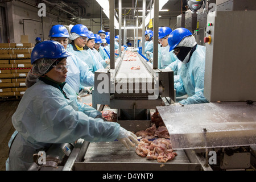
{"label": "dark blue hard hat on the nearest worker at left wearing safety glasses", "polygon": [[53,40],[46,40],[42,43],[36,44],[31,52],[31,64],[36,60],[42,58],[58,59],[71,56],[66,49],[59,43]]}

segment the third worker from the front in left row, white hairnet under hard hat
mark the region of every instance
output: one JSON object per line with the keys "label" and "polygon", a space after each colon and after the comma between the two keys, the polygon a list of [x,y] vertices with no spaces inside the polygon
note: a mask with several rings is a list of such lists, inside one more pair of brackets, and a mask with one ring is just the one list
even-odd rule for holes
{"label": "third worker from the front in left row, white hairnet under hard hat", "polygon": [[67,51],[74,53],[89,67],[89,71],[96,72],[98,69],[104,69],[102,64],[95,59],[92,52],[89,49],[85,49],[85,43],[89,37],[89,30],[82,24],[76,24],[71,29],[69,39],[72,40],[71,44],[68,44]]}

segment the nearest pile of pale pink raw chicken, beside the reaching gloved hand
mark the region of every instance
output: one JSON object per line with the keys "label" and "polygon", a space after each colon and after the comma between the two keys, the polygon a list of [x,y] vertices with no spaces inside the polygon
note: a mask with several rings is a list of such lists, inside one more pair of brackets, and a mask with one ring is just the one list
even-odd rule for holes
{"label": "nearest pile of pale pink raw chicken, beside the reaching gloved hand", "polygon": [[175,156],[177,156],[177,153],[172,150],[171,141],[164,138],[159,138],[152,142],[147,139],[141,139],[135,152],[148,160],[156,159],[159,163],[174,160]]}

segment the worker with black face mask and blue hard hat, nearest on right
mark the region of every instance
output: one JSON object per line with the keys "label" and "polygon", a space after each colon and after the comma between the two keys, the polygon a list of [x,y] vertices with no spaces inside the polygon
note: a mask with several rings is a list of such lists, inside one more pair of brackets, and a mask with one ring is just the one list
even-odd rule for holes
{"label": "worker with black face mask and blue hard hat, nearest on right", "polygon": [[180,82],[175,83],[176,97],[188,95],[180,104],[207,103],[204,97],[205,47],[197,45],[192,33],[177,28],[168,37],[170,51],[182,62]]}

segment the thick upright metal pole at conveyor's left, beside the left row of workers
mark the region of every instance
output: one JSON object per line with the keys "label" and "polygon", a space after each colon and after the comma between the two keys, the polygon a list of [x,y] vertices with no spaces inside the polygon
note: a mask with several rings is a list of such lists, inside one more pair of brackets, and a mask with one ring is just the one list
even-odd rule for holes
{"label": "thick upright metal pole at conveyor's left, beside the left row of workers", "polygon": [[114,25],[114,0],[109,1],[109,32],[110,32],[110,69],[115,69],[115,25]]}

